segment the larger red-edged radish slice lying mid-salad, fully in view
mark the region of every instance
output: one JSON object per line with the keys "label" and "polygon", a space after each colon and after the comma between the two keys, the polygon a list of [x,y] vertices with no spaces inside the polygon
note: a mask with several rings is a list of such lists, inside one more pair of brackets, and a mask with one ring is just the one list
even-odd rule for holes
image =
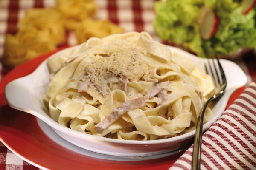
{"label": "larger red-edged radish slice lying mid-salad, fully in view", "polygon": [[204,40],[211,38],[218,28],[218,17],[208,7],[201,8],[200,14],[200,34]]}

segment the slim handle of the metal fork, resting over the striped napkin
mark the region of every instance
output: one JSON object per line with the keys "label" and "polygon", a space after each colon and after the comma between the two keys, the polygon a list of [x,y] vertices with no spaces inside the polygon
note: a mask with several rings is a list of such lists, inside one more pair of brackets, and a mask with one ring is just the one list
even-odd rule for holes
{"label": "slim handle of the metal fork, resting over the striped napkin", "polygon": [[210,101],[211,99],[205,102],[204,107],[201,109],[200,115],[198,117],[198,122],[196,124],[194,148],[193,148],[193,155],[192,155],[192,170],[200,170],[204,113]]}

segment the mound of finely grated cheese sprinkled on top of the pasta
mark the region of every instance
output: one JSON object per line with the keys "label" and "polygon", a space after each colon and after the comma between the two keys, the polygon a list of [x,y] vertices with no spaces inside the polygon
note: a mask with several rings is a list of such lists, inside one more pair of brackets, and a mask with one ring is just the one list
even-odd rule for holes
{"label": "mound of finely grated cheese sprinkled on top of the pasta", "polygon": [[96,54],[92,62],[85,65],[85,77],[89,86],[106,96],[113,83],[129,81],[150,81],[154,64],[145,59],[145,48],[131,40],[114,40],[95,48],[106,49],[105,54]]}

